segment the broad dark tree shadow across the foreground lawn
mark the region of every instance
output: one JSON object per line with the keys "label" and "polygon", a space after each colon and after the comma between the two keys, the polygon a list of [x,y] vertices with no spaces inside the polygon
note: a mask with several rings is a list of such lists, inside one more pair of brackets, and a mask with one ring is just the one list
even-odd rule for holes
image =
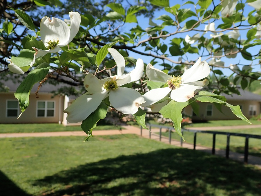
{"label": "broad dark tree shadow across the foreground lawn", "polygon": [[54,196],[261,195],[260,176],[261,170],[238,162],[170,148],[80,165],[34,184],[62,185],[62,190],[44,193]]}

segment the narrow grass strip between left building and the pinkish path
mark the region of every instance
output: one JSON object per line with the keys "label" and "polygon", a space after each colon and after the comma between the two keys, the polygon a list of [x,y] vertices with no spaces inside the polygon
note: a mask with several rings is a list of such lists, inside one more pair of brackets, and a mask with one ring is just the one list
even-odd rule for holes
{"label": "narrow grass strip between left building and the pinkish path", "polygon": [[[119,126],[97,125],[95,130],[118,130]],[[35,133],[57,131],[82,131],[81,126],[64,126],[56,123],[43,124],[0,124],[0,133]]]}

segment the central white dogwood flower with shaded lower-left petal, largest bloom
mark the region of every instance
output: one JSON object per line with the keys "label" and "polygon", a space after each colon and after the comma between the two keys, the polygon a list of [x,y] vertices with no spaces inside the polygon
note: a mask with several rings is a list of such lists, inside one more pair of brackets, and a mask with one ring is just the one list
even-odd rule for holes
{"label": "central white dogwood flower with shaded lower-left petal, largest bloom", "polygon": [[110,105],[123,114],[135,114],[139,105],[145,102],[142,95],[136,90],[120,87],[142,77],[143,61],[138,59],[135,69],[123,75],[125,69],[124,57],[114,48],[108,48],[108,51],[117,64],[117,75],[100,80],[93,74],[87,74],[84,78],[84,87],[88,92],[77,98],[64,110],[68,114],[68,122],[83,121],[97,109],[107,96],[109,96]]}

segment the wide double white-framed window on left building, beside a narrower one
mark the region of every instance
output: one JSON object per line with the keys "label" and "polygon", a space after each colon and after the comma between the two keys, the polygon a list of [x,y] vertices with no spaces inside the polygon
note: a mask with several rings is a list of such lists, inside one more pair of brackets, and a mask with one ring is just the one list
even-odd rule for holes
{"label": "wide double white-framed window on left building, beside a narrower one", "polygon": [[37,117],[54,116],[54,101],[37,101]]}

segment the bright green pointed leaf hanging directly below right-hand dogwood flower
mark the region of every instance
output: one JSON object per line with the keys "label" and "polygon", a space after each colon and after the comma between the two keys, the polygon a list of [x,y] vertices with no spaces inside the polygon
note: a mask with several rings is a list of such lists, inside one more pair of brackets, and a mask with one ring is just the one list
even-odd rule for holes
{"label": "bright green pointed leaf hanging directly below right-hand dogwood flower", "polygon": [[177,134],[179,134],[180,137],[182,137],[183,140],[185,140],[185,139],[184,139],[184,137],[181,133],[181,121],[182,121],[181,111],[187,105],[189,105],[188,101],[186,101],[186,102],[175,102],[174,100],[171,100],[170,103],[168,103],[167,105],[162,107],[162,109],[160,110],[160,114],[162,114],[162,116],[164,118],[171,119]]}

